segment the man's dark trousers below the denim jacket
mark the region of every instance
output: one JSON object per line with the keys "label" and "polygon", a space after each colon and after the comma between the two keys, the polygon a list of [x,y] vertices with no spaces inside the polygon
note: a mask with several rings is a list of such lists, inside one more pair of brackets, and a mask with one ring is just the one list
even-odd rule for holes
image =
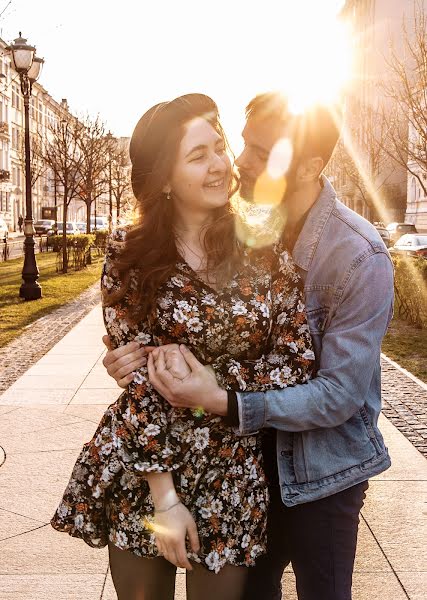
{"label": "man's dark trousers below the denim jacket", "polygon": [[299,600],[351,600],[359,513],[368,482],[287,507],[277,476],[271,480],[268,551],[249,569],[243,599],[280,600],[283,571],[292,563]]}

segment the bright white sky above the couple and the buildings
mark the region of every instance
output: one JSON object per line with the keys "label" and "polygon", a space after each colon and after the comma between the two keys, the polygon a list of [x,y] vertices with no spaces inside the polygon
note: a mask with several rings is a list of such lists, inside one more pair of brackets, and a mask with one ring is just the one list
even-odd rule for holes
{"label": "bright white sky above the couple and the buildings", "polygon": [[45,59],[39,81],[48,92],[75,113],[99,113],[116,136],[130,136],[153,104],[202,92],[217,102],[238,150],[256,93],[290,84],[307,98],[333,87],[325,78],[342,77],[346,40],[334,29],[342,4],[0,0],[0,37],[10,42],[21,31]]}

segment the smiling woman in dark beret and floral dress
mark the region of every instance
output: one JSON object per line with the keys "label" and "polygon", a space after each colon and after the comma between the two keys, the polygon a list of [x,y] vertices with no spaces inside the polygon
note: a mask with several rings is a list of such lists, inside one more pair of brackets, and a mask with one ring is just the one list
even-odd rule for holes
{"label": "smiling woman in dark beret and floral dress", "polygon": [[[300,281],[280,246],[250,256],[236,240],[215,103],[189,94],[151,108],[130,155],[142,217],[112,236],[102,277],[114,346],[185,343],[236,389],[306,381]],[[189,600],[237,600],[264,551],[267,502],[258,436],[172,409],[144,367],[85,444],[52,525],[108,543],[120,600],[172,599],[175,566],[190,571]]]}

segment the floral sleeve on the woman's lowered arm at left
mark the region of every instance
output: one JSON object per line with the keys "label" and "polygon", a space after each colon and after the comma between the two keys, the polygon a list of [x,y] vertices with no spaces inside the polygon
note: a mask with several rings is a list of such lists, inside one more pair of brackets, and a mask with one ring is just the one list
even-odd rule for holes
{"label": "floral sleeve on the woman's lowered arm at left", "polygon": [[[114,232],[106,248],[101,280],[105,327],[114,348],[135,340],[143,345],[154,345],[148,320],[134,323],[129,310],[135,302],[135,273],[131,274],[126,296],[117,302],[111,301],[123,285],[114,261],[123,249],[125,235],[123,231]],[[170,405],[151,386],[147,368],[135,371],[112,420],[113,445],[125,469],[134,473],[164,472],[180,466],[180,441],[171,431],[171,411]],[[102,446],[102,430],[99,433]],[[108,438],[110,432],[105,433]]]}

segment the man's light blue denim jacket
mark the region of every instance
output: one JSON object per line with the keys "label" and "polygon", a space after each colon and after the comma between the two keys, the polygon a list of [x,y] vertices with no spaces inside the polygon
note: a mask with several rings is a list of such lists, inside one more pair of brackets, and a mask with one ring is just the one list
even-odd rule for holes
{"label": "man's light blue denim jacket", "polygon": [[238,394],[240,433],[277,432],[283,502],[317,500],[381,473],[380,348],[393,312],[393,266],[376,229],[323,177],[293,251],[304,279],[316,374],[283,390]]}

